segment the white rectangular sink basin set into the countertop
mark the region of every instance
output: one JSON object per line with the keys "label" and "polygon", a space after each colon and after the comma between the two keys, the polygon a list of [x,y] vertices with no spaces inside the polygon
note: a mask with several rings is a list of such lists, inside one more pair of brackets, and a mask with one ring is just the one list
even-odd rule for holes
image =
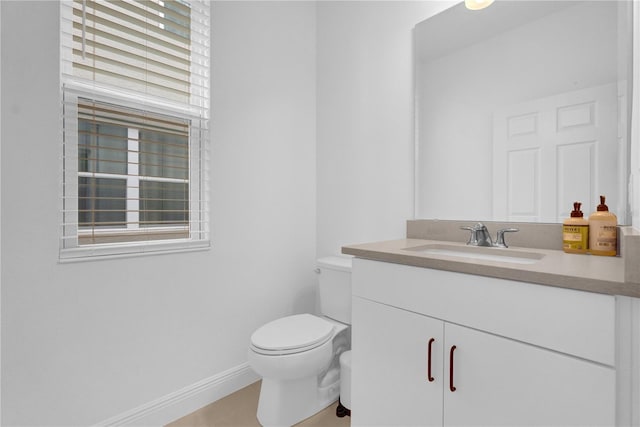
{"label": "white rectangular sink basin set into the countertop", "polygon": [[404,248],[403,250],[424,255],[448,256],[476,261],[506,262],[511,264],[535,264],[542,258],[544,258],[544,254],[537,252],[524,252],[502,248],[456,246],[443,244],[413,246]]}

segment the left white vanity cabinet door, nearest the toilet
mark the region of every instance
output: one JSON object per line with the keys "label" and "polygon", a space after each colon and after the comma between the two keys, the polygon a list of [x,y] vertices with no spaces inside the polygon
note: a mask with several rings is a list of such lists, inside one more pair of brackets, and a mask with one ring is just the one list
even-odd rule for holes
{"label": "left white vanity cabinet door, nearest the toilet", "polygon": [[441,426],[444,323],[354,297],[352,324],[351,425]]}

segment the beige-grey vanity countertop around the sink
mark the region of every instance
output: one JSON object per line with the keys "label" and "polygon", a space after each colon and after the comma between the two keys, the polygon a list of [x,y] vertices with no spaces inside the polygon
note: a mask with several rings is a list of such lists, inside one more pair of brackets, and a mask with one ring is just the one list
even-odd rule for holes
{"label": "beige-grey vanity countertop around the sink", "polygon": [[464,243],[407,238],[343,246],[342,253],[375,261],[518,280],[608,295],[640,297],[640,285],[625,282],[625,264],[622,257],[567,254],[563,251],[549,249],[486,248],[490,251],[509,251],[514,254],[535,252],[544,255],[542,259],[533,264],[513,264],[406,250],[406,248],[424,245],[466,247]]}

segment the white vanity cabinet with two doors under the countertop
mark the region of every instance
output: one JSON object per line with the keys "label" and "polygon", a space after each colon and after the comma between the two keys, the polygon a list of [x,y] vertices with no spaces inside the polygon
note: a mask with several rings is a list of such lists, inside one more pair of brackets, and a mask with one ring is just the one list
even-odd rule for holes
{"label": "white vanity cabinet with two doors under the countertop", "polygon": [[613,297],[360,259],[352,274],[352,425],[615,425]]}

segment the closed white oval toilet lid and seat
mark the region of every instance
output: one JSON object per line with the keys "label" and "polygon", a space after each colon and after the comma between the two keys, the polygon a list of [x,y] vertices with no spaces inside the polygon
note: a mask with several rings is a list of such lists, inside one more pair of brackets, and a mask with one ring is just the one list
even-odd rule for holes
{"label": "closed white oval toilet lid and seat", "polygon": [[296,353],[324,344],[333,334],[333,324],[311,314],[283,317],[258,328],[251,346],[260,353]]}

